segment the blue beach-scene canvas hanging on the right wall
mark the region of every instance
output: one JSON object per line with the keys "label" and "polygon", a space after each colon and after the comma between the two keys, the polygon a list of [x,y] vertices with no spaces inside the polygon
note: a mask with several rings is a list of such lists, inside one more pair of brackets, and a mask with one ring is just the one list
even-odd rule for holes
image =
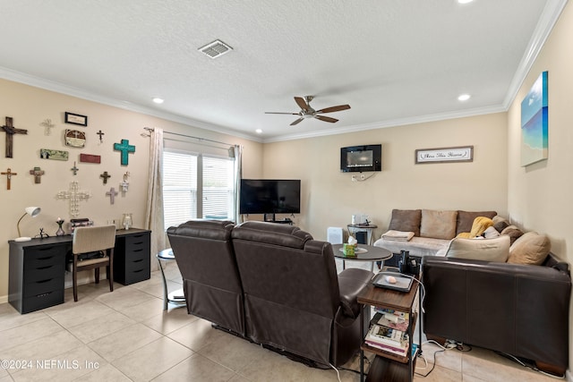
{"label": "blue beach-scene canvas hanging on the right wall", "polygon": [[521,102],[521,166],[547,159],[547,72],[542,72]]}

